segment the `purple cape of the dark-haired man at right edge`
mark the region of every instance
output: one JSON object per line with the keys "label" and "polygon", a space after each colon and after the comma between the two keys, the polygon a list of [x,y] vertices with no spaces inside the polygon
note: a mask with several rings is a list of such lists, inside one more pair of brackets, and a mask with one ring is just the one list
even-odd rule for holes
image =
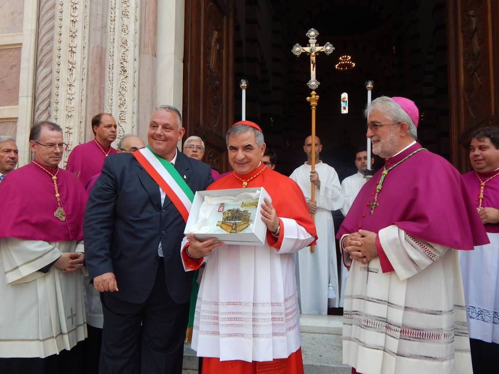
{"label": "purple cape of the dark-haired man at right edge", "polygon": [[[478,173],[480,179],[485,182],[489,178],[494,177],[499,173],[499,170],[495,170],[490,173]],[[477,173],[469,172],[463,175],[468,191],[471,193],[472,201],[475,206],[480,205],[480,181],[477,177]],[[491,179],[485,184],[484,187],[484,199],[482,200],[482,206],[485,207],[499,207],[499,176]],[[485,230],[490,233],[499,233],[499,223],[486,223]]]}

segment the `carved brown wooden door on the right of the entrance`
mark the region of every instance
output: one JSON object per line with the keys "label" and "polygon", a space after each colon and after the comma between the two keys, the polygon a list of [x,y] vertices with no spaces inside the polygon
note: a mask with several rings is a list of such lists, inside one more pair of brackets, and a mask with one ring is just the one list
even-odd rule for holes
{"label": "carved brown wooden door on the right of the entrance", "polygon": [[[499,126],[499,1],[448,1],[451,157],[470,170],[462,145],[478,127]],[[463,135],[461,135],[463,134]]]}

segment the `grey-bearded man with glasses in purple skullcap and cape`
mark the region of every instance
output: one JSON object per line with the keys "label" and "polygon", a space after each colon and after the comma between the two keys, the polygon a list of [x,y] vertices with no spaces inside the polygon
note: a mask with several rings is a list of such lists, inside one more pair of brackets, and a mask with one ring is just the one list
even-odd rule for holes
{"label": "grey-bearded man with glasses in purple skullcap and cape", "polygon": [[366,109],[385,166],[360,190],[337,237],[350,267],[343,363],[363,374],[472,372],[458,250],[488,243],[458,171],[417,142],[403,97]]}

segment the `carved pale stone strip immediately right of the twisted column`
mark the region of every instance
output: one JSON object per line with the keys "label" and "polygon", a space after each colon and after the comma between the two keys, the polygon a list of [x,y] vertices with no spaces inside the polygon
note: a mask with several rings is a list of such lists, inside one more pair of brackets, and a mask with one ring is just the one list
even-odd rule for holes
{"label": "carved pale stone strip immediately right of the twisted column", "polygon": [[84,141],[89,0],[58,0],[51,118],[63,128],[69,152]]}

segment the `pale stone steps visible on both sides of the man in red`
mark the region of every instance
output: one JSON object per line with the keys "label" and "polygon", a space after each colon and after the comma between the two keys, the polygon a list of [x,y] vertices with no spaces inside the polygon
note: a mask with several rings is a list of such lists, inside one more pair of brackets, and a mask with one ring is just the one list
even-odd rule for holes
{"label": "pale stone steps visible on both sides of the man in red", "polygon": [[[301,352],[305,374],[349,374],[342,362],[342,316],[301,315]],[[198,357],[184,345],[183,374],[198,374]]]}

